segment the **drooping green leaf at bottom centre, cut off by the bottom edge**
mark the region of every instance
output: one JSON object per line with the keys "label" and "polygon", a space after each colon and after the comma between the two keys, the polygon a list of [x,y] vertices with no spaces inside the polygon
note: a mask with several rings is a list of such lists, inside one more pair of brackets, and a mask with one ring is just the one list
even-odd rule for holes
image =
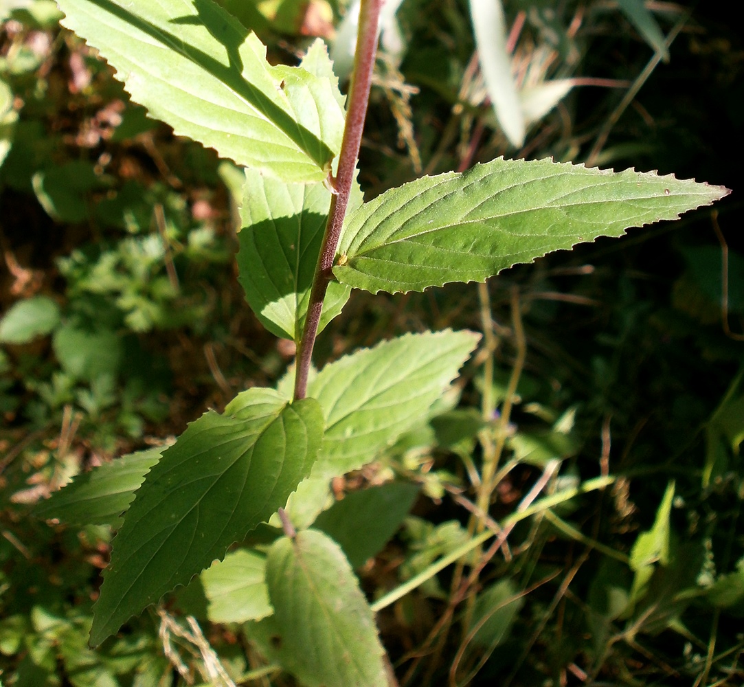
{"label": "drooping green leaf at bottom centre, cut off by the bottom edge", "polygon": [[280,660],[307,687],[385,687],[372,611],[339,546],[314,530],[277,540],[266,563]]}

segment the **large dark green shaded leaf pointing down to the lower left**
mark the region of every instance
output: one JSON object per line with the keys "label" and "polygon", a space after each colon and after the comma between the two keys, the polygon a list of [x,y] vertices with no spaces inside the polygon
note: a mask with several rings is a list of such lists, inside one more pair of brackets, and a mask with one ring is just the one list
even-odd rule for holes
{"label": "large dark green shaded leaf pointing down to the lower left", "polygon": [[91,644],[221,559],[307,475],[322,436],[315,400],[269,389],[191,423],[147,474],[114,540],[94,607]]}

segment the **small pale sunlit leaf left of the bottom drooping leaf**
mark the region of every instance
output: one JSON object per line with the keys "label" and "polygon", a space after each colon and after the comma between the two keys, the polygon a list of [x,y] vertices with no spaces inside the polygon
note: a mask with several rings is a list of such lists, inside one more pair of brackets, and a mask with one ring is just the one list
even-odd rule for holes
{"label": "small pale sunlit leaf left of the bottom drooping leaf", "polygon": [[240,549],[202,572],[212,622],[246,622],[274,613],[266,587],[266,556]]}

